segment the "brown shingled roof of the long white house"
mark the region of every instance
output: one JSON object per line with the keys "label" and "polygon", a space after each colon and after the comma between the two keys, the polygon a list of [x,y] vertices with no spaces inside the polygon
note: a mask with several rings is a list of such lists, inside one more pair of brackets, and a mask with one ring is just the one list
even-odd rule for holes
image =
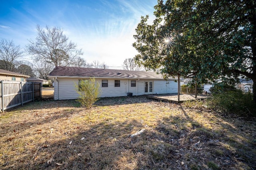
{"label": "brown shingled roof of the long white house", "polygon": [[129,71],[117,69],[96,69],[57,66],[48,77],[105,77],[128,79],[163,79],[161,74],[151,71]]}

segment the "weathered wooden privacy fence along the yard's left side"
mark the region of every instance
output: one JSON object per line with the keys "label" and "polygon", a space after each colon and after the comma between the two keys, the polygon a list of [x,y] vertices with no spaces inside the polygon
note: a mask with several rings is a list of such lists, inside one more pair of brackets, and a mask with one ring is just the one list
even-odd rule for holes
{"label": "weathered wooden privacy fence along the yard's left side", "polygon": [[41,83],[0,81],[0,109],[23,105],[35,99],[41,99]]}

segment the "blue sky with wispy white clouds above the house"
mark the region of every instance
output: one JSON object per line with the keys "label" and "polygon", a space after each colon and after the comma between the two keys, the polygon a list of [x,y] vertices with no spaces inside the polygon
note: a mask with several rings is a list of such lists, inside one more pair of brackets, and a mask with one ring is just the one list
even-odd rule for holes
{"label": "blue sky with wispy white clouds above the house", "polygon": [[156,4],[157,0],[2,0],[0,39],[25,47],[28,39],[36,38],[36,24],[57,26],[83,49],[87,62],[99,60],[121,69],[126,58],[138,53],[132,43],[140,17],[148,14],[152,21]]}

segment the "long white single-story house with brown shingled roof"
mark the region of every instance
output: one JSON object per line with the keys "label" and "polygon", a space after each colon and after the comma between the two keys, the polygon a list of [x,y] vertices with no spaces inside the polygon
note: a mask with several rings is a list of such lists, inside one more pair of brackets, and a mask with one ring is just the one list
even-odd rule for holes
{"label": "long white single-story house with brown shingled roof", "polygon": [[94,77],[100,83],[100,97],[178,93],[176,79],[162,78],[162,75],[148,71],[95,69],[81,67],[55,67],[48,77],[54,78],[54,100],[77,99],[75,83]]}

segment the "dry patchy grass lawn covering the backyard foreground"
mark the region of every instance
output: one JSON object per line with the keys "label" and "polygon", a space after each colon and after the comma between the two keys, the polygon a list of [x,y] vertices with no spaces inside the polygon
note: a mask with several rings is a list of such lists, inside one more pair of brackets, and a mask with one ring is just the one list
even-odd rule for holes
{"label": "dry patchy grass lawn covering the backyard foreground", "polygon": [[0,114],[0,169],[256,167],[255,120],[193,105],[104,98],[90,123],[74,100],[28,103]]}

